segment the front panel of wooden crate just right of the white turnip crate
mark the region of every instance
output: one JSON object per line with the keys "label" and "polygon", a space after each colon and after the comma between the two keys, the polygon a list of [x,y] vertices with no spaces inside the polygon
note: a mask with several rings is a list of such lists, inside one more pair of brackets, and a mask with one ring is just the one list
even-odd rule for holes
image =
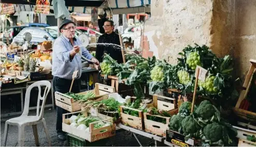
{"label": "front panel of wooden crate just right of the white turnip crate", "polygon": [[[133,110],[133,111],[137,111],[139,116],[133,116],[130,114],[126,114],[124,113],[123,109],[129,109],[129,110]],[[143,115],[143,111],[142,110],[138,110],[138,109],[133,109],[133,108],[129,108],[129,107],[125,107],[125,106],[120,106],[120,117],[121,117],[121,122],[123,124],[127,124],[131,127],[134,127],[136,129],[140,129],[140,130],[144,130],[144,115]]]}

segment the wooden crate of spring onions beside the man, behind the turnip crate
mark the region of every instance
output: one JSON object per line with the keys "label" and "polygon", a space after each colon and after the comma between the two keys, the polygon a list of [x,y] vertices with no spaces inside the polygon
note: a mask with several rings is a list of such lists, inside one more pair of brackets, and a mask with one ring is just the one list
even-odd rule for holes
{"label": "wooden crate of spring onions beside the man, behind the turnip crate", "polygon": [[[95,83],[95,89],[91,91],[81,92],[78,95],[84,95],[88,92],[94,92],[95,97],[93,99],[102,100],[108,98],[110,93],[115,93],[115,88],[99,83]],[[69,112],[75,112],[81,110],[81,107],[78,104],[78,101],[75,101],[74,98],[62,94],[60,92],[55,92],[55,104]]]}

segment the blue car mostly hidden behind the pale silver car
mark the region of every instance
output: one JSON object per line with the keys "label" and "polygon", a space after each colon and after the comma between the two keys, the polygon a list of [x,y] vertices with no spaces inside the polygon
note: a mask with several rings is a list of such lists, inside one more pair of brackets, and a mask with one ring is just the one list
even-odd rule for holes
{"label": "blue car mostly hidden behind the pale silver car", "polygon": [[50,26],[48,24],[45,24],[45,23],[28,23],[28,24],[25,24],[25,25],[22,25],[22,26],[9,26],[9,27],[6,27],[5,28],[5,31],[3,33],[3,38],[2,38],[2,41],[4,43],[7,43],[7,38],[6,38],[6,33],[7,32],[7,35],[8,35],[8,38],[9,38],[9,42],[12,42],[12,39],[20,33],[20,31],[25,28],[25,27],[30,27],[30,26],[39,26],[39,27],[46,27],[46,26]]}

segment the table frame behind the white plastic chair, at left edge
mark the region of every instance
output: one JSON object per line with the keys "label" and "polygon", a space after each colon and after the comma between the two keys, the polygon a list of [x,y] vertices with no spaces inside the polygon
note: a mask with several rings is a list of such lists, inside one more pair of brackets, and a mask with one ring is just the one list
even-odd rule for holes
{"label": "table frame behind the white plastic chair, at left edge", "polygon": [[11,87],[11,88],[6,88],[1,91],[1,96],[3,95],[12,95],[12,94],[20,94],[21,97],[21,111],[19,112],[12,112],[12,113],[7,113],[7,114],[1,114],[2,117],[6,116],[12,116],[12,115],[18,115],[22,114],[23,108],[24,108],[24,102],[23,102],[23,89],[26,89],[26,87]]}

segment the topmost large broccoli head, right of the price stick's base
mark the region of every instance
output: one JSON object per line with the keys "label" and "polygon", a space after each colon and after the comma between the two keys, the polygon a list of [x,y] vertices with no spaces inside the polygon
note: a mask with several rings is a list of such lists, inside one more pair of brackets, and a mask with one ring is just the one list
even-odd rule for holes
{"label": "topmost large broccoli head, right of the price stick's base", "polygon": [[200,106],[195,110],[195,112],[203,119],[209,119],[215,114],[216,110],[208,100],[204,100],[201,102]]}

